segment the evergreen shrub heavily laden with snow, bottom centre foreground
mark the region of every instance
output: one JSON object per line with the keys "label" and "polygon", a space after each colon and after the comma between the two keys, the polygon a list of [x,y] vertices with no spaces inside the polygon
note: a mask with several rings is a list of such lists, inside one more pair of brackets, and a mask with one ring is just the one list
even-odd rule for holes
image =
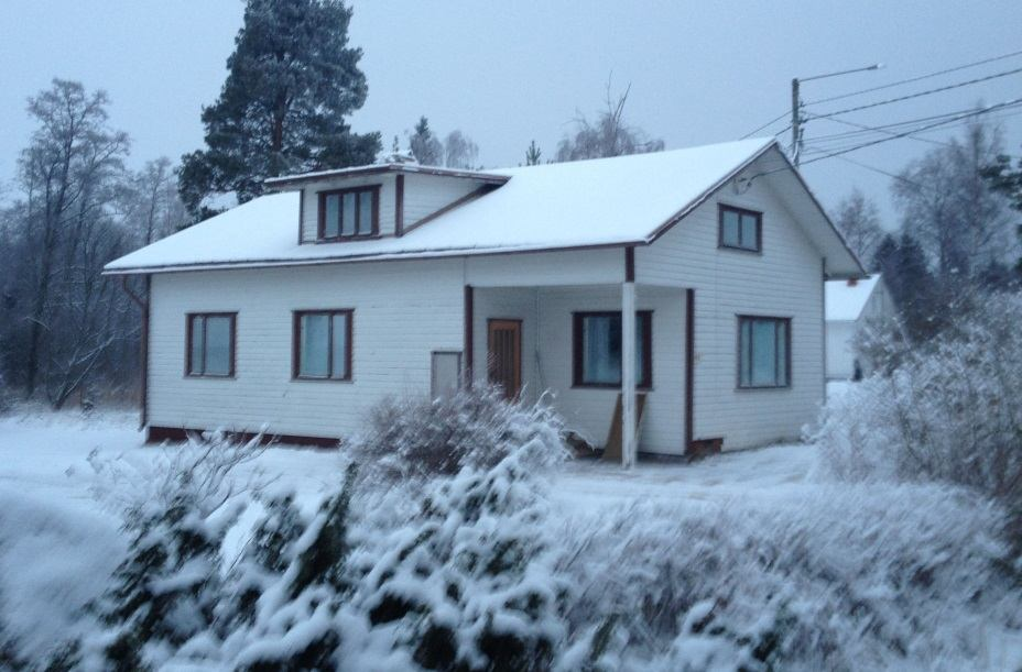
{"label": "evergreen shrub heavily laden with snow, bottom centre foreground", "polygon": [[[520,412],[520,411],[515,411]],[[555,428],[489,469],[425,487],[418,513],[380,538],[362,530],[355,607],[394,652],[427,669],[543,670],[564,637],[545,474],[566,455]]]}

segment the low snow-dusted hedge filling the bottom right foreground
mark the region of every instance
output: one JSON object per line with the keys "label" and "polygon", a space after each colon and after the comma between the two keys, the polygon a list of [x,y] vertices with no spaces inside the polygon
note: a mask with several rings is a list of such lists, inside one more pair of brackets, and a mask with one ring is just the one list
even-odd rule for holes
{"label": "low snow-dusted hedge filling the bottom right foreground", "polygon": [[564,669],[977,669],[1018,629],[994,506],[938,486],[637,504],[561,533]]}

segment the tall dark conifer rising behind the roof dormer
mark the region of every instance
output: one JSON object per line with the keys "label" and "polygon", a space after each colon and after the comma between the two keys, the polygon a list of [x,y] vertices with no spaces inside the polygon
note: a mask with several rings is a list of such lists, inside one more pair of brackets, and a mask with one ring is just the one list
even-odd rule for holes
{"label": "tall dark conifer rising behind the roof dormer", "polygon": [[203,109],[206,148],[182,157],[178,190],[193,216],[208,214],[215,194],[244,202],[268,177],[376,158],[380,134],[345,122],[368,91],[350,20],[341,0],[248,0],[227,80]]}

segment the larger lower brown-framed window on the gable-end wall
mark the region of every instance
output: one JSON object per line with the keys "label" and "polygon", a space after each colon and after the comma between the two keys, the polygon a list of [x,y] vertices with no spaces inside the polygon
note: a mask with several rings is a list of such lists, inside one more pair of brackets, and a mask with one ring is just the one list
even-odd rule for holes
{"label": "larger lower brown-framed window on the gable-end wall", "polygon": [[791,385],[790,318],[738,318],[738,386]]}

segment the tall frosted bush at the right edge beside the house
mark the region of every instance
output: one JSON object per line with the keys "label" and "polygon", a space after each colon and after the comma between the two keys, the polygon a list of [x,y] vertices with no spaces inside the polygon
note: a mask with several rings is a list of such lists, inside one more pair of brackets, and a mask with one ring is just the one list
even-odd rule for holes
{"label": "tall frosted bush at the right edge beside the house", "polygon": [[989,295],[825,409],[820,473],[942,481],[1022,513],[1022,295]]}

